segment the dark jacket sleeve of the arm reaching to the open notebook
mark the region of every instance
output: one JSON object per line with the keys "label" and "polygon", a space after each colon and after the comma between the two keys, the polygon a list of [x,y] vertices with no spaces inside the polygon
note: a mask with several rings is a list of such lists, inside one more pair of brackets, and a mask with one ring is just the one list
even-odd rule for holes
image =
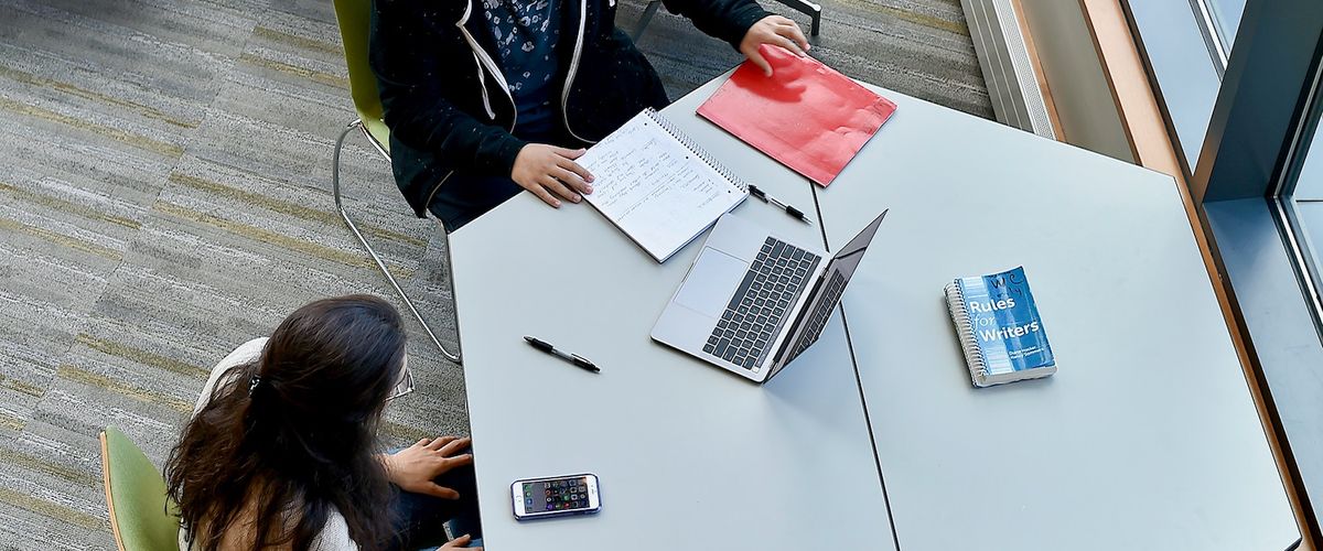
{"label": "dark jacket sleeve of the arm reaching to the open notebook", "polygon": [[442,83],[464,59],[438,59],[435,36],[418,3],[377,0],[369,59],[377,75],[384,120],[390,132],[455,168],[505,176],[527,144],[505,128],[486,124],[459,110],[442,92]]}

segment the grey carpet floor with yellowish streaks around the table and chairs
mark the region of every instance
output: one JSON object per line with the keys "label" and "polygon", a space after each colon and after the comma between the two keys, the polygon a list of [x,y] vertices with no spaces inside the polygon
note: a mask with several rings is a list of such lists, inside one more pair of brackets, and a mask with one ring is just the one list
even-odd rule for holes
{"label": "grey carpet floor with yellowish streaks around the table and chairs", "polygon": [[[958,0],[824,7],[819,58],[990,116]],[[640,45],[672,98],[738,62],[664,12]],[[332,214],[351,118],[327,0],[0,0],[0,548],[111,548],[102,427],[160,464],[235,345],[316,297],[394,300]],[[344,163],[348,203],[455,346],[434,223],[364,141]],[[385,439],[467,432],[460,369],[411,334],[418,391]]]}

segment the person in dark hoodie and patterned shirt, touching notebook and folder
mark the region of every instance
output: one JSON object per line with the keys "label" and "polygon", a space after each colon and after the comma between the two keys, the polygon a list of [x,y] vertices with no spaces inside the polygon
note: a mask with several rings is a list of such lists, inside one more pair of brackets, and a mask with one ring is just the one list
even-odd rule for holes
{"label": "person in dark hoodie and patterned shirt, touching notebook and folder", "polygon": [[[754,0],[664,0],[769,75],[758,46],[808,49]],[[617,0],[374,0],[377,75],[396,181],[454,231],[521,189],[558,207],[591,193],[574,163],[646,107],[662,79],[615,28]]]}

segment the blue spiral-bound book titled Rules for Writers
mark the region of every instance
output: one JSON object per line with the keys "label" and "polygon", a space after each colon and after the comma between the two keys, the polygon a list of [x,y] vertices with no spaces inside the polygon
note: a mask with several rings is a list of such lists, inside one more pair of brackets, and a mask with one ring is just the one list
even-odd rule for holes
{"label": "blue spiral-bound book titled Rules for Writers", "polygon": [[946,308],[960,337],[974,386],[1057,373],[1024,267],[951,281],[946,285]]}

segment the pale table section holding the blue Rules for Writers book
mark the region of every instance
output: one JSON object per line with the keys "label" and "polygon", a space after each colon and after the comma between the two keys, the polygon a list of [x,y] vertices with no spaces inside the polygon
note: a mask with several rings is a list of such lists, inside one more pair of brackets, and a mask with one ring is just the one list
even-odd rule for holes
{"label": "pale table section holding the blue Rules for Writers book", "polygon": [[[827,189],[900,547],[1283,550],[1299,534],[1172,178],[901,94]],[[1058,371],[974,388],[942,288],[1023,264]]]}

